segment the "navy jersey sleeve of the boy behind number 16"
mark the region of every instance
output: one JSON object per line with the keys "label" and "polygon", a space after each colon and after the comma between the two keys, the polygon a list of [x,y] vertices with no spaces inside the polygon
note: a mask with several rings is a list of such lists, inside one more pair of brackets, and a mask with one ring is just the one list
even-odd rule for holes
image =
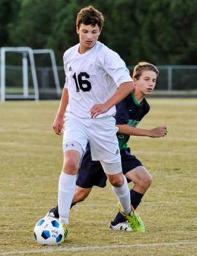
{"label": "navy jersey sleeve of the boy behind number 16", "polygon": [[[129,96],[128,96],[129,97]],[[129,100],[128,97],[116,105],[115,124],[128,124],[129,120]]]}

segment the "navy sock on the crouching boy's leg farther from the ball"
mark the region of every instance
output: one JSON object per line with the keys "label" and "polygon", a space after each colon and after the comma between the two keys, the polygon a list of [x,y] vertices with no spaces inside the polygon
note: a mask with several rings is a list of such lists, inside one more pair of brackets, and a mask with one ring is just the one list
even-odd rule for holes
{"label": "navy sock on the crouching boy's leg farther from the ball", "polygon": [[[130,190],[130,196],[131,196],[131,205],[133,206],[134,209],[136,209],[136,207],[138,207],[138,205],[140,204],[143,194],[140,194],[138,192],[136,192],[135,190],[131,189]],[[117,213],[117,215],[115,216],[114,220],[112,221],[112,225],[115,226],[120,222],[125,222],[126,218],[124,218],[124,216],[122,216],[122,214],[120,212]]]}

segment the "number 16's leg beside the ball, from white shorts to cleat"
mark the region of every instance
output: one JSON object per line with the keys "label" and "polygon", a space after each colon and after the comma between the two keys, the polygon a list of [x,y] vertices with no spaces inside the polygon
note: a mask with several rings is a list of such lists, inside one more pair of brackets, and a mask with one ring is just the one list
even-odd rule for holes
{"label": "number 16's leg beside the ball, from white shorts to cleat", "polygon": [[65,231],[62,242],[64,242],[68,233],[69,211],[75,194],[78,168],[85,152],[87,138],[87,131],[83,122],[73,118],[66,118],[62,142],[64,163],[59,177],[58,191],[59,221],[62,223]]}

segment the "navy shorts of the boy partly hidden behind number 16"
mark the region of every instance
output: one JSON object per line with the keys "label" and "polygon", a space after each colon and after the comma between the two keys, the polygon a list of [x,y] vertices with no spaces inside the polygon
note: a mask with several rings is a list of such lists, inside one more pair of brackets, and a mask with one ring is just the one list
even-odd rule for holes
{"label": "navy shorts of the boy partly hidden behind number 16", "polygon": [[[136,159],[135,156],[131,155],[130,148],[124,148],[120,151],[121,162],[122,162],[122,172],[126,174],[127,172],[133,170],[138,166],[143,164]],[[103,167],[99,161],[92,161],[91,149],[88,147],[85,151],[80,169],[77,176],[77,186],[80,188],[92,188],[93,186],[98,186],[105,188],[107,177],[103,171]],[[127,179],[128,180],[128,179]],[[131,180],[128,180],[131,182]]]}

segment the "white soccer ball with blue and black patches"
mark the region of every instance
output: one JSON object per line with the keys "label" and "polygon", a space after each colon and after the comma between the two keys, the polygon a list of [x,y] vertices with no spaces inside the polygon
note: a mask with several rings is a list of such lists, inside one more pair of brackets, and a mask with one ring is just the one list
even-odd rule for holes
{"label": "white soccer ball with blue and black patches", "polygon": [[34,227],[34,237],[41,245],[57,245],[61,243],[62,236],[64,228],[61,223],[49,216],[38,221]]}

